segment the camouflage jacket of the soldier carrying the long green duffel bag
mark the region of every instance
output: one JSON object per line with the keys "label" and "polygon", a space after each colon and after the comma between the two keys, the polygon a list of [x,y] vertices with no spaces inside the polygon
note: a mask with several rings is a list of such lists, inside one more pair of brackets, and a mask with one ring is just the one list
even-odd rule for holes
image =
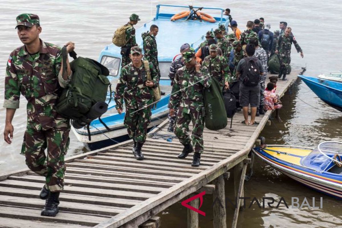
{"label": "camouflage jacket of the soldier carrying the long green duffel bag", "polygon": [[190,108],[203,106],[203,88],[209,88],[210,85],[211,78],[207,67],[201,67],[197,73],[195,68],[179,68],[174,77],[168,107],[180,107],[183,112],[190,113]]}

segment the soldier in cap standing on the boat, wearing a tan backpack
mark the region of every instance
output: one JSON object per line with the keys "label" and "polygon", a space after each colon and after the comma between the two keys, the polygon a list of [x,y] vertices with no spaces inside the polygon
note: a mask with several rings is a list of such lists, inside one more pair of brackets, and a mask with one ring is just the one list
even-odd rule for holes
{"label": "soldier in cap standing on the boat, wearing a tan backpack", "polygon": [[131,58],[129,55],[130,50],[132,47],[137,46],[136,41],[135,41],[135,28],[133,26],[136,25],[138,23],[138,21],[140,21],[139,16],[136,15],[135,13],[133,13],[129,17],[129,22],[126,24],[126,25],[129,24],[132,27],[129,27],[126,29],[126,41],[127,41],[127,43],[125,46],[123,46],[121,48],[121,56],[122,56],[121,67],[124,67],[131,62]]}

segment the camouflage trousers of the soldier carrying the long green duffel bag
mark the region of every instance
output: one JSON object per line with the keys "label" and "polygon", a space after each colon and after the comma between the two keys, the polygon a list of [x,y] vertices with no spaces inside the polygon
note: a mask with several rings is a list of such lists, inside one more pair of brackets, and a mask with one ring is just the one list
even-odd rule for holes
{"label": "camouflage trousers of the soldier carrying the long green duffel bag", "polygon": [[[188,134],[190,121],[193,123],[191,138]],[[183,107],[180,107],[177,113],[175,127],[174,133],[181,144],[186,145],[192,142],[196,153],[203,152],[204,117],[201,107],[190,108],[190,113],[183,112]]]}

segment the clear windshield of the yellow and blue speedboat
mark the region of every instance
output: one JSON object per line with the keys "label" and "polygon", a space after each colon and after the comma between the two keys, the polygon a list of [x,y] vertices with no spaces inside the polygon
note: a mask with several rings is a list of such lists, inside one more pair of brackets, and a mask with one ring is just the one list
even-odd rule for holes
{"label": "clear windshield of the yellow and blue speedboat", "polygon": [[329,165],[332,163],[336,154],[342,156],[341,142],[323,142],[302,160],[302,164],[317,172],[323,172],[330,167]]}

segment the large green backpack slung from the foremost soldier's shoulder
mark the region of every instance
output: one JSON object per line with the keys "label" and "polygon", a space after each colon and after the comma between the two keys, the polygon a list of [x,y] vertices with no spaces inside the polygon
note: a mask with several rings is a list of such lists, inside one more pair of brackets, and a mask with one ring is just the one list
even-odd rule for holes
{"label": "large green backpack slung from the foremost soldier's shoulder", "polygon": [[[76,57],[70,63],[73,71],[67,88],[59,96],[56,111],[68,119],[72,119],[75,128],[86,126],[92,120],[100,117],[106,110],[104,102],[110,84],[108,69],[93,59]],[[62,48],[63,75],[66,73],[66,47]]]}

